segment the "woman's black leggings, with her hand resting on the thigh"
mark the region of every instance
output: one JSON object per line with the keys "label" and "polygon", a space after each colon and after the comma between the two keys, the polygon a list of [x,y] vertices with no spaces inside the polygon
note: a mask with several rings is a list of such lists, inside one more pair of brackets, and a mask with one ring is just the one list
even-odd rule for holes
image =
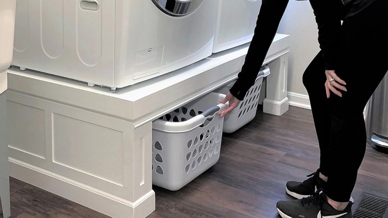
{"label": "woman's black leggings, with her hand resting on the thigh", "polygon": [[364,108],[388,71],[388,1],[378,0],[342,24],[335,73],[347,92],[326,98],[322,53],[303,74],[320,148],[325,194],[347,202],[366,149]]}

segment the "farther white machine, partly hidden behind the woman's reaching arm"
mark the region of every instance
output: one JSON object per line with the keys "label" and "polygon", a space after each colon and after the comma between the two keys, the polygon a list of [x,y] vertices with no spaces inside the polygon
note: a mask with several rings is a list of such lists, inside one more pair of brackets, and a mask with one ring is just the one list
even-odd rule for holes
{"label": "farther white machine, partly hidden behind the woman's reaching arm", "polygon": [[213,53],[252,40],[261,0],[218,0]]}

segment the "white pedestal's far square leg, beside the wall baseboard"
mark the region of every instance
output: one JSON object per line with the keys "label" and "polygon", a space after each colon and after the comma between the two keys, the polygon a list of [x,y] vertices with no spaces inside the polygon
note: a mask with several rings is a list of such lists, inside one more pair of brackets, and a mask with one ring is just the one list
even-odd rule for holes
{"label": "white pedestal's far square leg, beside the wall baseboard", "polygon": [[271,74],[267,76],[267,97],[263,102],[263,111],[282,115],[289,110],[287,98],[288,54],[268,64]]}

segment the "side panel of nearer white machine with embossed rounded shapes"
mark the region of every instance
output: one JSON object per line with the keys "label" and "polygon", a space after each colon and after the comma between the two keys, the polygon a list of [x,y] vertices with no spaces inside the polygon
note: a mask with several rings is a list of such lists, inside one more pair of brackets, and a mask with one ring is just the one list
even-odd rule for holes
{"label": "side panel of nearer white machine with embossed rounded shapes", "polygon": [[[113,87],[114,2],[17,0],[13,65]],[[103,7],[103,10],[102,10]]]}

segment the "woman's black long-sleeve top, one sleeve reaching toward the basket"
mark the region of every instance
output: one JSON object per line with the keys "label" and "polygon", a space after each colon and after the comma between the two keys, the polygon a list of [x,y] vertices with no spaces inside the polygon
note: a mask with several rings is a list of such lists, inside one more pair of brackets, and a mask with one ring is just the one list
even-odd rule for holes
{"label": "woman's black long-sleeve top, one sleeve reaching toward the basket", "polygon": [[[310,0],[326,70],[335,70],[335,54],[341,20],[357,14],[373,1],[375,0]],[[237,81],[229,90],[238,100],[242,101],[248,90],[255,84],[288,2],[289,0],[262,0],[245,62]]]}

